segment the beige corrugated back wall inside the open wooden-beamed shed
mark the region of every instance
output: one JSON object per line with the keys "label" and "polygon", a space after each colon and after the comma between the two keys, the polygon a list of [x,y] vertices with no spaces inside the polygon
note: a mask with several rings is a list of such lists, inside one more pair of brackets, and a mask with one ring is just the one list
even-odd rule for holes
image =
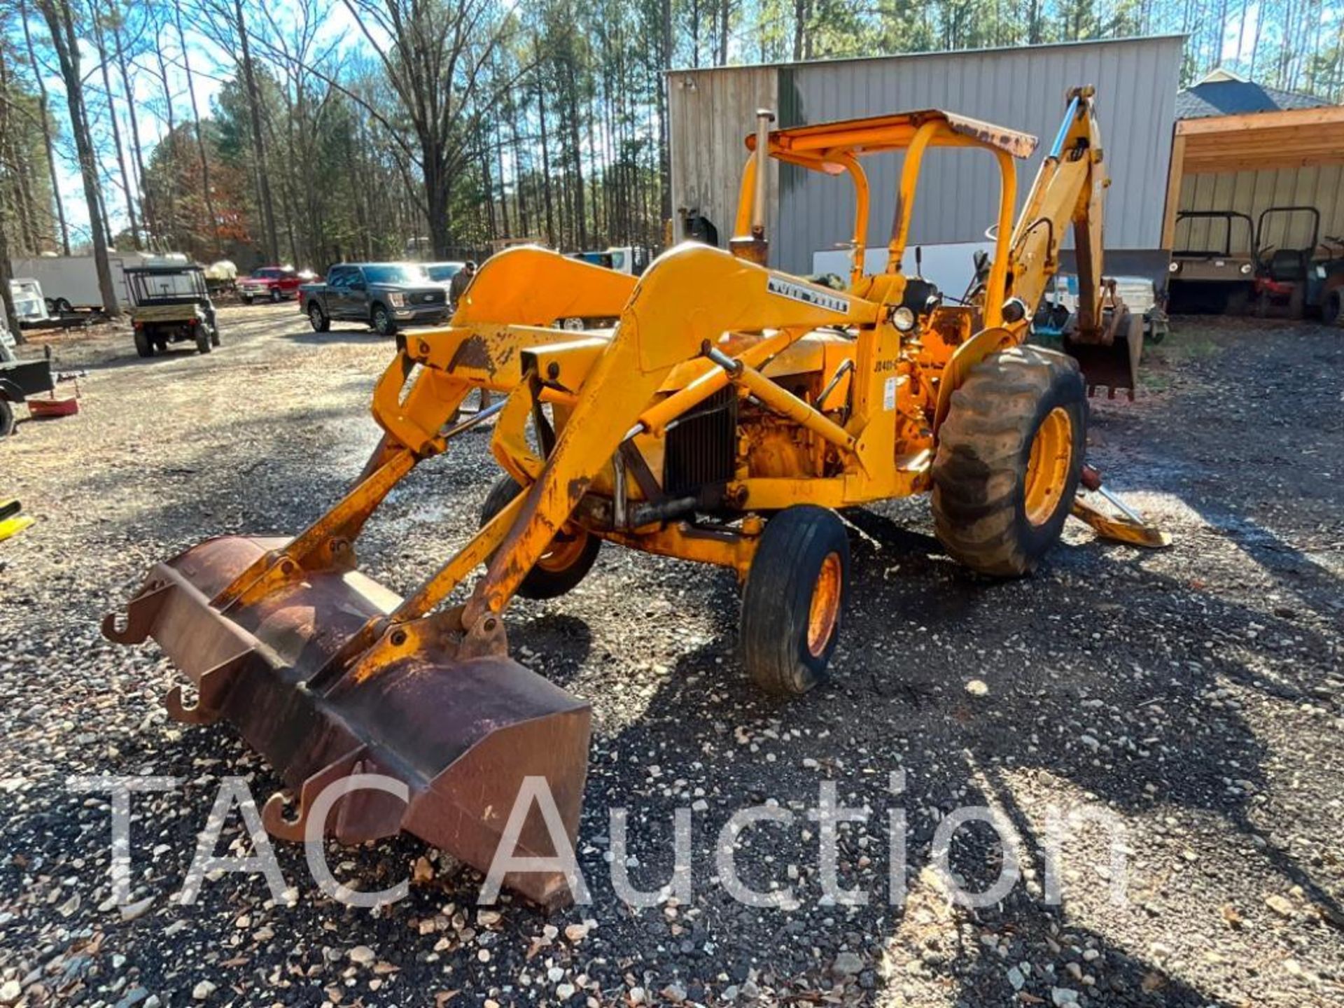
{"label": "beige corrugated back wall inside the open wooden-beamed shed", "polygon": [[[1180,210],[1235,210],[1258,222],[1270,207],[1302,206],[1321,211],[1321,238],[1344,235],[1344,165],[1210,172],[1187,175],[1180,184]],[[1212,228],[1208,220],[1179,223],[1175,247],[1214,249],[1212,242],[1222,249],[1223,226],[1216,224],[1216,234]],[[1308,214],[1271,214],[1265,222],[1265,242],[1269,245],[1305,249],[1310,241],[1312,220]]]}

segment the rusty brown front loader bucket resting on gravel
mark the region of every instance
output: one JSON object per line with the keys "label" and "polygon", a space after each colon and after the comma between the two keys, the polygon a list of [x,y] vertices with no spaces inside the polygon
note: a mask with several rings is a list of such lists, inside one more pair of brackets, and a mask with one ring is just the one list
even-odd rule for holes
{"label": "rusty brown front loader bucket resting on gravel", "polygon": [[[402,829],[488,871],[524,778],[550,786],[573,847],[587,771],[589,706],[503,655],[462,657],[445,636],[411,642],[374,675],[336,672],[331,659],[374,618],[401,602],[355,571],[308,571],[255,602],[211,599],[254,560],[286,540],[224,536],[159,563],[126,610],[103,633],[122,644],[153,637],[196,684],[195,706],[175,687],[167,707],[191,723],[227,718],[276,767],[297,798],[286,818],[273,796],[266,828],[305,835],[323,789],[352,774],[383,774],[409,800],[349,790],[316,831],[343,843]],[[558,852],[539,809],[531,809],[517,857]],[[562,872],[509,874],[504,884],[543,906],[573,895]]]}

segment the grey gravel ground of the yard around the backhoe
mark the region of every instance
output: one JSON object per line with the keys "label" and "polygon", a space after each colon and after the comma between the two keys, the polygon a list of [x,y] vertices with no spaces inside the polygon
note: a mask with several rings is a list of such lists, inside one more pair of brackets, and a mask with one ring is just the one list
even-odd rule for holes
{"label": "grey gravel ground of the yard around the backhoe", "polygon": [[[277,781],[227,724],[183,727],[153,646],[102,641],[156,559],[222,532],[293,532],[375,439],[388,345],[314,335],[292,305],[224,309],[223,347],[141,362],[129,333],[60,337],[87,367],[78,417],[0,445],[0,492],[35,527],[0,544],[0,1004],[1148,1004],[1344,1003],[1344,341],[1337,331],[1179,320],[1136,405],[1098,402],[1091,458],[1176,536],[1165,552],[1071,526],[1034,578],[952,563],[923,501],[849,515],[852,602],[832,684],[769,702],[735,659],[730,575],[603,550],[573,594],[517,602],[515,656],[590,699],[595,739],[579,862],[589,906],[477,907],[478,878],[414,837],[332,848],[364,887],[411,875],[371,913],[323,896],[277,844],[289,888],[207,879],[181,906],[220,778]],[[362,540],[406,591],[465,540],[488,437],[422,466]],[[905,771],[892,794],[891,773]],[[109,878],[109,802],[71,774],[179,778],[134,800],[132,902]],[[824,781],[866,823],[839,836],[821,894]],[[735,902],[712,849],[728,816],[793,814],[739,840],[738,870],[784,909]],[[1023,882],[950,905],[931,839],[958,806],[1021,839]],[[629,809],[626,871],[671,872],[673,809],[694,816],[694,891],[634,909],[613,892],[607,809]],[[1075,823],[1063,898],[1043,896],[1055,810],[1124,825],[1128,886],[1098,825]],[[888,902],[888,813],[907,821],[909,894]],[[900,836],[900,831],[896,831]],[[237,812],[219,853],[250,849]],[[969,887],[999,871],[982,825],[957,833]]]}

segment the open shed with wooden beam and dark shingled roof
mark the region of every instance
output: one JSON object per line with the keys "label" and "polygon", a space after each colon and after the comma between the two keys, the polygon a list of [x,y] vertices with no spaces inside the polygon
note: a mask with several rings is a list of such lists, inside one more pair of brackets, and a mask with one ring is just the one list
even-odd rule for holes
{"label": "open shed with wooden beam and dark shingled roof", "polygon": [[[1208,218],[1185,220],[1177,231],[1184,211],[1234,211],[1258,222],[1270,207],[1316,207],[1320,239],[1344,235],[1344,106],[1215,71],[1177,95],[1176,116],[1165,247],[1214,249],[1226,241]],[[1274,214],[1262,241],[1304,249],[1312,223],[1309,214]]]}

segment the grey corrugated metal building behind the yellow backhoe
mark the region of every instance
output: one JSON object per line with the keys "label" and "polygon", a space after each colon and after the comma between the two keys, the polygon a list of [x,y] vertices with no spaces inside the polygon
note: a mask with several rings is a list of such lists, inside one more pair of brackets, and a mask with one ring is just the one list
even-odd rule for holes
{"label": "grey corrugated metal building behind the yellow backhoe", "polygon": [[[1183,39],[1179,35],[1024,46],[1000,50],[910,54],[774,66],[668,71],[673,211],[698,211],[719,231],[732,231],[743,138],[758,108],[774,109],[778,126],[941,108],[1025,130],[1042,138],[1019,164],[1019,203],[1059,126],[1064,91],[1095,85],[1111,188],[1106,246],[1111,253],[1157,253]],[[864,163],[872,184],[868,245],[884,247],[895,210],[899,156]],[[771,173],[770,258],[809,273],[813,254],[845,242],[853,222],[847,177],[824,177],[794,165]],[[993,161],[965,151],[930,151],[925,159],[911,242],[929,249],[981,243],[993,222],[999,180]],[[1113,257],[1109,271],[1124,259]],[[1128,267],[1140,271],[1134,266]],[[1144,267],[1160,274],[1160,265]]]}

